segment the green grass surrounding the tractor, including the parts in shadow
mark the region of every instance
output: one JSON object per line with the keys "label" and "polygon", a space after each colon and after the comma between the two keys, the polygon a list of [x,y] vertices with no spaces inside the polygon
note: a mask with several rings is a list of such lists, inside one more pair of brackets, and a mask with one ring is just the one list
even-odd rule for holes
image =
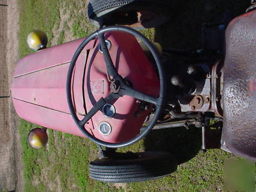
{"label": "green grass surrounding the tractor, including the parts in shadow", "polygon": [[[218,4],[216,9],[219,12],[223,11],[222,6],[231,5],[234,5],[237,15],[243,10],[242,7],[237,8],[238,1],[228,1],[231,5],[225,1],[222,6],[222,1],[214,2]],[[57,44],[63,43],[67,30],[71,30],[74,36],[81,38],[95,29],[86,20],[85,1],[19,0],[19,3],[21,57],[32,52],[26,45],[26,35],[33,29],[41,29],[47,33],[48,46],[51,46],[54,38]],[[204,4],[204,1],[201,3]],[[173,17],[176,19],[170,20],[168,24],[159,28],[144,30],[142,33],[150,40],[157,40],[163,45],[198,47],[202,4],[198,5],[198,8],[195,8],[193,3],[187,3],[184,7],[179,6],[182,9],[182,15],[173,10]],[[244,3],[241,4],[244,7]],[[54,36],[52,29],[60,28],[60,9],[63,9],[64,15],[69,12],[70,16],[65,20],[63,29],[60,29],[61,32]],[[187,24],[187,28],[181,23]],[[160,180],[116,186],[88,178],[88,164],[97,157],[97,148],[90,140],[49,129],[47,148],[35,150],[26,142],[28,132],[33,127],[36,125],[24,120],[20,122],[25,191],[217,191],[223,189],[224,159],[236,158],[222,150],[201,152],[201,133],[195,127],[189,130],[179,128],[153,131],[145,140],[120,150],[172,152],[180,163],[177,172]]]}

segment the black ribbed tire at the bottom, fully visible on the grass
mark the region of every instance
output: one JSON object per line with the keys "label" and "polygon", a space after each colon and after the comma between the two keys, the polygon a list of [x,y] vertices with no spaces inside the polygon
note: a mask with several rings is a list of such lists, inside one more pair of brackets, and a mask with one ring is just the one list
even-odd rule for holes
{"label": "black ribbed tire at the bottom, fully visible on the grass", "polygon": [[90,177],[102,182],[141,182],[159,179],[177,170],[177,160],[167,152],[134,155],[132,159],[96,159],[90,163]]}

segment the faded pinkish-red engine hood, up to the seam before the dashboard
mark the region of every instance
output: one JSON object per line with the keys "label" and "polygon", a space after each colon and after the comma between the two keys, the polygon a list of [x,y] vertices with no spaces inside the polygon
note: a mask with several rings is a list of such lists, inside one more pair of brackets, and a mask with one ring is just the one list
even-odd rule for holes
{"label": "faded pinkish-red engine hood, up to the seam before the dashboard", "polygon": [[[12,98],[15,110],[21,118],[57,131],[83,136],[76,129],[70,115],[65,90],[68,67],[81,42],[83,38],[49,47],[20,59],[14,72]],[[90,42],[84,48],[77,67],[84,65],[86,50],[93,46],[94,42]],[[83,79],[83,71],[75,70],[75,73]],[[81,84],[80,87],[76,84],[73,88],[77,96],[83,95]],[[83,103],[80,106],[83,109]],[[84,113],[84,110],[81,112]]]}

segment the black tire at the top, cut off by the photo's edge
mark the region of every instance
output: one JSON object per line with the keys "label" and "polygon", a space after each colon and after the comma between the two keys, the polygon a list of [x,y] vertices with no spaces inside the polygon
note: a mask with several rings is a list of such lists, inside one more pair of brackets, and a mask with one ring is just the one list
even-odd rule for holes
{"label": "black tire at the top, cut off by the photo's edge", "polygon": [[124,25],[136,29],[154,28],[170,19],[172,0],[91,0],[88,19],[98,26]]}

